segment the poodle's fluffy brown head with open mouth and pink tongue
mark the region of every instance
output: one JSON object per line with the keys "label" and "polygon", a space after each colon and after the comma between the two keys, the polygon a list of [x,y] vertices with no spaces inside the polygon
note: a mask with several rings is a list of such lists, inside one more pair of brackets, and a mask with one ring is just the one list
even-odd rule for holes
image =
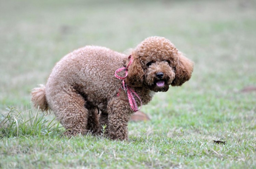
{"label": "poodle's fluffy brown head with open mouth and pink tongue", "polygon": [[133,62],[126,83],[133,87],[145,86],[155,92],[166,92],[169,85],[181,86],[193,72],[193,62],[163,37],[145,39],[131,55]]}

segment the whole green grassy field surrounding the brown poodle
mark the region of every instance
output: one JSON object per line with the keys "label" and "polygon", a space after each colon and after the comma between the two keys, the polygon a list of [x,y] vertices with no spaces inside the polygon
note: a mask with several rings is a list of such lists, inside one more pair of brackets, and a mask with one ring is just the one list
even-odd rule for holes
{"label": "whole green grassy field surrounding the brown poodle", "polygon": [[[0,166],[256,168],[256,92],[240,92],[256,86],[255,8],[254,0],[0,1]],[[67,138],[53,115],[31,109],[31,89],[63,55],[90,44],[122,52],[155,35],[186,53],[194,72],[143,106],[151,120],[129,123],[129,140]]]}

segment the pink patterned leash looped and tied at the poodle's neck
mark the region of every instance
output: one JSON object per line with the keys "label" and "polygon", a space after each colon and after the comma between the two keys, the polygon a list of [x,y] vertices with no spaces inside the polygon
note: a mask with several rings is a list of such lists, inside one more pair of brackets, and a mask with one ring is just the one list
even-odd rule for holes
{"label": "pink patterned leash looped and tied at the poodle's neck", "polygon": [[[117,69],[117,70],[115,71],[115,77],[118,78],[118,79],[120,79],[120,80],[122,80],[122,82],[123,82],[123,87],[121,86],[121,88],[124,89],[124,91],[126,92],[126,94],[127,94],[127,96],[128,96],[129,104],[130,104],[130,107],[131,107],[132,111],[133,111],[133,112],[137,112],[137,111],[140,110],[141,107],[142,107],[142,101],[141,101],[139,95],[138,95],[131,87],[129,87],[129,86],[125,83],[125,78],[126,78],[127,75],[128,75],[128,68],[129,68],[129,66],[130,66],[131,63],[132,63],[132,57],[131,57],[131,55],[128,57],[128,59],[130,59],[130,61],[129,61],[127,67],[122,67],[122,68]],[[125,70],[125,76],[124,76],[124,77],[118,76],[117,73],[122,72],[123,70]],[[120,89],[119,89],[119,90],[120,90]],[[137,103],[136,103],[136,100],[135,100],[133,94],[134,94],[136,97],[138,97],[138,99],[139,99],[140,102],[141,102],[141,107],[140,107],[140,109],[138,109],[138,105],[137,105]],[[117,93],[117,95],[119,95],[119,92]]]}

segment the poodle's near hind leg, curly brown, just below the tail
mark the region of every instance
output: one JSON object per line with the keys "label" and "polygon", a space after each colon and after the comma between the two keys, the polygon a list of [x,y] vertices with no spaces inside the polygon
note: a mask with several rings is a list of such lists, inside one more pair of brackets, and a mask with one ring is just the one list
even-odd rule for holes
{"label": "poodle's near hind leg, curly brown, just below the tail", "polygon": [[47,95],[51,109],[60,120],[66,135],[85,134],[87,132],[88,109],[86,100],[74,90],[55,91]]}

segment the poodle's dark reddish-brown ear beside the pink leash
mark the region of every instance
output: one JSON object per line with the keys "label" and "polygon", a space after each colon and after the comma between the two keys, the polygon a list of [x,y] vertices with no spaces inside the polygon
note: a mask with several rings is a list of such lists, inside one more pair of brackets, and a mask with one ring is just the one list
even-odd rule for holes
{"label": "poodle's dark reddish-brown ear beside the pink leash", "polygon": [[128,76],[126,78],[126,83],[129,86],[142,87],[143,77],[144,71],[142,69],[140,59],[133,57],[133,61],[128,68]]}

